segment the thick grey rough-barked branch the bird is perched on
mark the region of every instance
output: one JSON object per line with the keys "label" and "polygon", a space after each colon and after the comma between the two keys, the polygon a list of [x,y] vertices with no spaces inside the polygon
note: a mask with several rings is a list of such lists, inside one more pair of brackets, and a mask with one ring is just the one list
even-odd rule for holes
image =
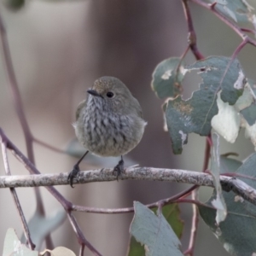
{"label": "thick grey rough-barked branch the bird is perched on", "polygon": [[[67,175],[68,173],[62,172],[59,174],[2,176],[0,177],[0,188],[67,185]],[[119,177],[119,180],[127,179],[189,183],[214,187],[210,174],[177,169],[131,166]],[[73,183],[109,182],[115,180],[113,169],[102,169],[79,172],[78,178],[75,178]],[[240,195],[244,200],[256,205],[256,189],[253,189],[247,183],[237,178],[226,176],[220,177],[220,183],[225,191],[232,190],[236,195]]]}

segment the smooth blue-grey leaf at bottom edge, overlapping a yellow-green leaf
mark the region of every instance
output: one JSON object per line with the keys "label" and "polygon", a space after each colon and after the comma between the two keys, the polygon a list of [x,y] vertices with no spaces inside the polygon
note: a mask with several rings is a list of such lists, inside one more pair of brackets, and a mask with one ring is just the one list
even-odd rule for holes
{"label": "smooth blue-grey leaf at bottom edge, overlapping a yellow-green leaf", "polygon": [[131,235],[146,247],[146,256],[180,256],[180,241],[173,232],[166,218],[159,216],[143,206],[134,202],[135,215],[131,222]]}

